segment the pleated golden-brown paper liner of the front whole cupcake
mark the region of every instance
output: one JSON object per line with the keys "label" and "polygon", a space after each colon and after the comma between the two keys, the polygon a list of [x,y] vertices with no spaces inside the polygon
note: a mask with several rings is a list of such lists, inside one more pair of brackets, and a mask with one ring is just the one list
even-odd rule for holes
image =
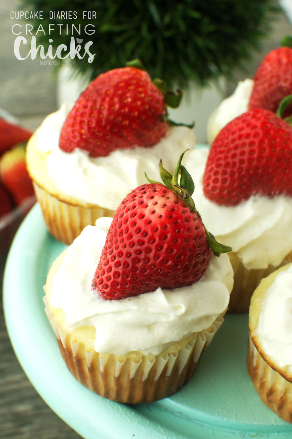
{"label": "pleated golden-brown paper liner of the front whole cupcake", "polygon": [[[223,322],[220,314],[206,330],[192,334],[175,350],[175,343],[157,356],[127,356],[87,352],[84,343],[72,342],[55,319],[44,297],[45,310],[69,371],[100,396],[120,403],[148,403],[176,393],[190,380],[204,349]],[[172,352],[172,348],[173,351]]]}

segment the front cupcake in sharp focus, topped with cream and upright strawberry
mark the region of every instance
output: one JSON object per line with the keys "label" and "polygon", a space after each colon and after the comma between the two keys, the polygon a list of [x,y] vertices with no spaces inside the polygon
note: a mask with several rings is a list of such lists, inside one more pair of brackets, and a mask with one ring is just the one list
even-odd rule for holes
{"label": "front cupcake in sharp focus, topped with cream and upright strawberry", "polygon": [[232,289],[230,249],[205,230],[185,168],[176,168],[180,188],[177,173],[171,186],[161,170],[167,186],[139,186],[113,219],[85,227],[45,286],[68,369],[121,403],[161,399],[189,381]]}

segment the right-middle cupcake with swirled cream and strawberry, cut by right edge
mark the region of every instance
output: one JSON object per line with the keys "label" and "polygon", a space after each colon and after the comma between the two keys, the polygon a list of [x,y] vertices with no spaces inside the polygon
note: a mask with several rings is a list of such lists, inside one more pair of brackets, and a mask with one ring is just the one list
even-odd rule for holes
{"label": "right-middle cupcake with swirled cream and strawberry, cut by right edge", "polygon": [[287,122],[254,109],[188,156],[204,224],[232,246],[230,312],[247,312],[260,280],[292,260],[291,145]]}

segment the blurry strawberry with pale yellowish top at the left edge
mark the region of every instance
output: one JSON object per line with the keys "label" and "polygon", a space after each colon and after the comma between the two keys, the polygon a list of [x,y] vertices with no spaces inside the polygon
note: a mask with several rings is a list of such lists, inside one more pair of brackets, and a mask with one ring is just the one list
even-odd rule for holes
{"label": "blurry strawberry with pale yellowish top at the left edge", "polygon": [[0,179],[15,205],[34,194],[25,163],[25,148],[18,145],[0,158]]}

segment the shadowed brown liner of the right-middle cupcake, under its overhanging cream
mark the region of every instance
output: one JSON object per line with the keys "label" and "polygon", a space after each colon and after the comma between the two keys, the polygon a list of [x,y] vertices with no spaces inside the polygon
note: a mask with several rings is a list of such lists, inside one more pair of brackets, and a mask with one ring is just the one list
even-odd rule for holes
{"label": "shadowed brown liner of the right-middle cupcake, under its overhanging cream", "polygon": [[269,265],[265,269],[249,270],[243,265],[236,253],[230,252],[228,255],[234,272],[234,284],[228,306],[229,313],[248,312],[251,296],[261,279],[267,277],[277,268],[292,262],[292,252],[290,252],[277,267]]}

